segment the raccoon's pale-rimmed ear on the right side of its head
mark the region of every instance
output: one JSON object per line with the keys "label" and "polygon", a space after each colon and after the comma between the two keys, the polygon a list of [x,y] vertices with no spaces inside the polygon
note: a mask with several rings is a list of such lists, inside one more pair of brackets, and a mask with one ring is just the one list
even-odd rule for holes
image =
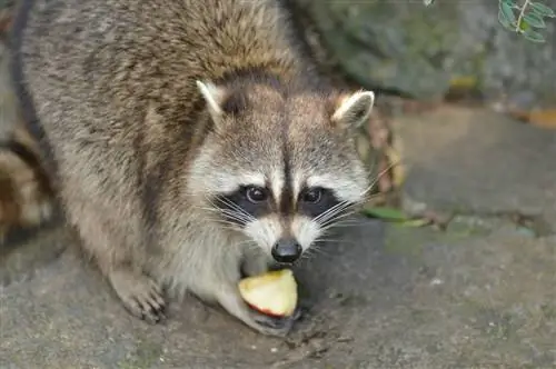
{"label": "raccoon's pale-rimmed ear on the right side of its head", "polygon": [[342,94],[336,100],[335,111],[331,120],[345,128],[359,128],[370,116],[375,104],[373,91],[357,91]]}

